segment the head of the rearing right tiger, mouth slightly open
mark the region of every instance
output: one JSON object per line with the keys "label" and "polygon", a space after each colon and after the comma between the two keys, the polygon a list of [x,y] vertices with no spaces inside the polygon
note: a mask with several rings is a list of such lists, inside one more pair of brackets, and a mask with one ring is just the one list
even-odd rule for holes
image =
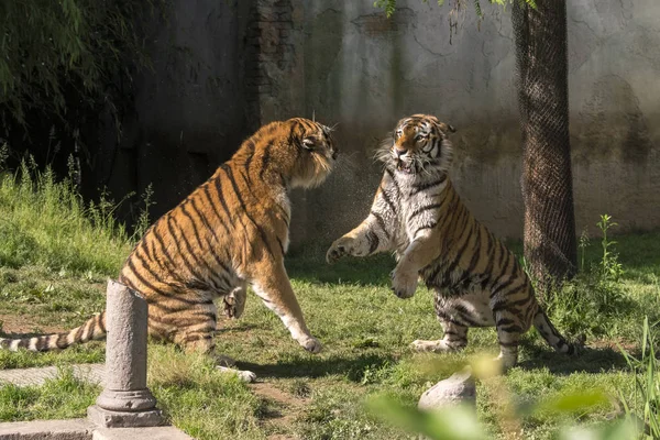
{"label": "head of the rearing right tiger, mouth slightly open", "polygon": [[455,129],[431,114],[402,119],[383,141],[378,158],[392,170],[405,175],[447,173],[452,162],[451,142]]}

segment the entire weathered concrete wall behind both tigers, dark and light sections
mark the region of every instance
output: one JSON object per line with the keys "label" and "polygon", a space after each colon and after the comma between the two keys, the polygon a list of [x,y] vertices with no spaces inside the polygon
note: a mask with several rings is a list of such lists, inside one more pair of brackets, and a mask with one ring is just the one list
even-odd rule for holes
{"label": "entire weathered concrete wall behind both tigers, dark and light sections", "polygon": [[[326,185],[295,193],[292,234],[329,241],[369,211],[380,140],[429,112],[459,129],[452,178],[470,208],[520,237],[510,11],[483,4],[477,26],[469,6],[450,34],[449,4],[398,7],[387,20],[372,0],[174,0],[168,25],[145,25],[154,72],[138,77],[135,114],[121,145],[102,148],[99,180],[114,195],[153,183],[160,216],[260,124],[315,114],[338,124],[342,154]],[[605,212],[622,232],[660,228],[658,23],[657,0],[569,2],[579,232]]]}

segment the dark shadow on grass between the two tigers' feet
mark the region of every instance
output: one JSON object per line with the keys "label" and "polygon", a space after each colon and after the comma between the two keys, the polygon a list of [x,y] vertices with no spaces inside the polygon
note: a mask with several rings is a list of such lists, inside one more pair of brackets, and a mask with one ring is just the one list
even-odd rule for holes
{"label": "dark shadow on grass between the two tigers' feet", "polygon": [[366,369],[377,370],[396,363],[394,355],[362,354],[358,358],[331,356],[326,359],[309,358],[276,364],[256,364],[251,362],[237,362],[237,367],[249,370],[257,377],[323,377],[328,375],[343,375],[351,382],[361,382]]}

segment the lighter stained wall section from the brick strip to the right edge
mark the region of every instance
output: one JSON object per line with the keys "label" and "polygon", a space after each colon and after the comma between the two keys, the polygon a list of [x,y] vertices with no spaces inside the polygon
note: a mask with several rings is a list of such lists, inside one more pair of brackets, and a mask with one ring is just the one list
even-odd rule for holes
{"label": "lighter stained wall section from the brick strip to the right edge", "polygon": [[[274,2],[261,1],[273,4]],[[278,1],[289,63],[266,61],[263,122],[316,114],[339,123],[338,172],[295,198],[294,237],[329,240],[367,212],[380,169],[373,148],[396,121],[430,112],[459,129],[452,176],[476,217],[520,237],[520,143],[509,11],[472,10],[450,37],[447,6],[399,0],[386,20],[372,1]],[[660,3],[569,4],[570,105],[578,230],[610,213],[619,231],[660,227]],[[264,111],[264,109],[266,109]]]}

